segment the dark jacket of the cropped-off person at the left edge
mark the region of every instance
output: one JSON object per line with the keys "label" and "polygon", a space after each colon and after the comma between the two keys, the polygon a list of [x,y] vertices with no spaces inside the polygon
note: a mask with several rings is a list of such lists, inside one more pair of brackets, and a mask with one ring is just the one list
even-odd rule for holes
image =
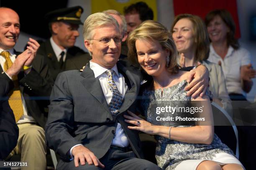
{"label": "dark jacket of the cropped-off person at the left edge", "polygon": [[8,104],[8,91],[12,84],[0,78],[0,161],[17,145],[19,129]]}

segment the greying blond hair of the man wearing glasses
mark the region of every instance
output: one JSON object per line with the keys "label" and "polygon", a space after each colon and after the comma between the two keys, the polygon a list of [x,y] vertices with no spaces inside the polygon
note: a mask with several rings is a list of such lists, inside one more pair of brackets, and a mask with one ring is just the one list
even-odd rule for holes
{"label": "greying blond hair of the man wearing glasses", "polygon": [[84,21],[84,40],[91,40],[94,36],[94,29],[103,25],[115,25],[119,30],[118,22],[111,15],[94,13]]}

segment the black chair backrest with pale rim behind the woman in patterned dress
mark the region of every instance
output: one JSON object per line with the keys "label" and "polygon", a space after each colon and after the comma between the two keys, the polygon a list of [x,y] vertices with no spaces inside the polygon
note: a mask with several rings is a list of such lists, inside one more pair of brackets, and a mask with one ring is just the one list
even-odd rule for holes
{"label": "black chair backrest with pale rim behind the woman in patterned dress", "polygon": [[223,143],[232,149],[239,158],[238,130],[233,119],[222,107],[212,102],[212,114],[215,125],[215,134]]}

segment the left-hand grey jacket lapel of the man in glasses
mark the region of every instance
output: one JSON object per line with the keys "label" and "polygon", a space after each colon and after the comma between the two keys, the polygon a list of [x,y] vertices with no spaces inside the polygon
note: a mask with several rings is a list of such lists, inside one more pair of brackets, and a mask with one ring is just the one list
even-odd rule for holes
{"label": "left-hand grey jacket lapel of the man in glasses", "polygon": [[92,96],[95,97],[95,99],[97,99],[97,101],[100,102],[100,104],[102,104],[102,107],[108,111],[109,114],[111,114],[108,103],[102,91],[102,87],[100,86],[100,81],[99,79],[95,78],[92,69],[90,69],[90,63],[85,66],[81,76],[84,77],[84,79],[81,81],[83,86],[90,92],[90,94],[92,94]]}

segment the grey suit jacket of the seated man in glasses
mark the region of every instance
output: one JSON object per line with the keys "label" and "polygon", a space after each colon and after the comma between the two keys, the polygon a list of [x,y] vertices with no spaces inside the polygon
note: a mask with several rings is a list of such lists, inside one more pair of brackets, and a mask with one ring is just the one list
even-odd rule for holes
{"label": "grey suit jacket of the seated man in glasses", "polygon": [[97,158],[103,157],[110,148],[118,122],[137,157],[143,157],[138,132],[128,129],[123,117],[128,109],[136,111],[141,74],[125,61],[118,61],[117,67],[128,86],[117,116],[110,113],[100,81],[89,64],[83,72],[65,71],[57,77],[50,97],[46,140],[62,160],[69,159],[69,150],[77,144],[90,149]]}

